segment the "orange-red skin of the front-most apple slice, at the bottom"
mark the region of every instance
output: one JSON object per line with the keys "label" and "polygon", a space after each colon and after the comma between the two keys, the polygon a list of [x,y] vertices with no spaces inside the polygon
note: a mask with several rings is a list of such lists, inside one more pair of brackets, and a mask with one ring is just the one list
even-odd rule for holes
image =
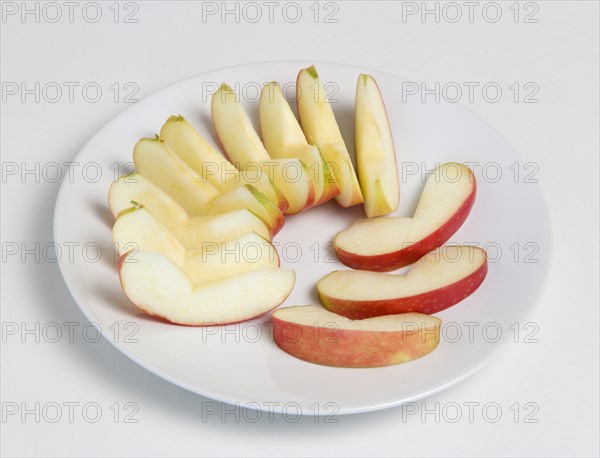
{"label": "orange-red skin of the front-most apple slice, at the bottom", "polygon": [[306,326],[273,316],[273,337],[279,348],[325,366],[368,368],[405,363],[431,353],[439,335],[439,325],[435,330],[374,332]]}

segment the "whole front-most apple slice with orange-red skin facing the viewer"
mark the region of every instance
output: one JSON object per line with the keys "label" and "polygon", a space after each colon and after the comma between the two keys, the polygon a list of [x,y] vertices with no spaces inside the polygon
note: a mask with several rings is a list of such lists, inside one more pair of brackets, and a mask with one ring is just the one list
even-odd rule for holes
{"label": "whole front-most apple slice with orange-red skin facing the viewer", "polygon": [[437,347],[441,320],[419,313],[350,320],[314,305],[273,312],[275,343],[292,356],[337,367],[405,363]]}

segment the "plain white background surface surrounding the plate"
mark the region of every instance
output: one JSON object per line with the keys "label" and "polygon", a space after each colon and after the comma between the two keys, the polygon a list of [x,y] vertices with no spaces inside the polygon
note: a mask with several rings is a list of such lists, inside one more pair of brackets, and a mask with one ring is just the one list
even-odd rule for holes
{"label": "plain white background surface surrounding the plate", "polygon": [[[6,11],[7,3],[3,2]],[[263,415],[251,423],[236,421],[219,405],[204,416],[209,400],[179,389],[131,363],[108,342],[88,343],[76,335],[57,343],[35,342],[3,333],[1,397],[32,407],[35,402],[79,402],[73,422],[50,423],[33,415],[2,419],[3,456],[597,456],[598,445],[598,3],[537,2],[537,23],[524,23],[534,6],[500,2],[502,18],[491,23],[478,2],[473,22],[463,2],[436,23],[433,15],[402,20],[410,2],[337,2],[325,23],[325,6],[315,22],[313,2],[301,2],[302,18],[292,23],[285,2],[268,6],[256,23],[254,10],[236,22],[234,14],[202,15],[200,2],[137,2],[137,23],[124,23],[120,5],[114,23],[112,2],[101,2],[103,16],[90,23],[82,16],[86,2],[68,9],[57,23],[46,9],[39,23],[28,15],[7,16],[0,24],[1,79],[33,87],[48,82],[96,82],[103,88],[97,103],[80,90],[70,103],[34,96],[22,102],[8,95],[2,104],[3,164],[63,163],[105,122],[127,108],[109,86],[138,85],[137,98],[164,85],[211,69],[265,60],[305,59],[357,64],[427,82],[496,82],[503,89],[497,103],[475,93],[461,103],[496,128],[525,160],[539,164],[555,237],[554,266],[541,306],[531,317],[539,325],[538,343],[511,345],[492,364],[459,385],[416,406],[418,414],[394,408],[340,417],[337,422],[304,418],[297,423]],[[19,8],[20,2],[15,3]],[[215,4],[218,8],[220,2]],[[421,2],[415,4],[422,8]],[[34,3],[29,4],[34,8]],[[230,8],[233,8],[230,5]],[[435,2],[428,4],[435,7]],[[43,8],[43,4],[41,5]],[[527,9],[526,9],[527,8]],[[42,10],[40,10],[42,11]],[[88,19],[94,10],[86,10]],[[327,11],[334,11],[328,7]],[[488,9],[487,19],[493,10]],[[515,102],[509,89],[518,82],[538,85],[537,103]],[[6,86],[6,84],[4,85]],[[523,94],[522,94],[523,95]],[[53,96],[53,95],[52,95]],[[5,102],[5,103],[4,103]],[[52,216],[59,183],[27,175],[4,177],[2,242],[32,246],[52,241]],[[509,217],[509,215],[507,215]],[[519,224],[514,221],[514,224]],[[4,247],[3,247],[4,249]],[[2,322],[34,328],[49,322],[85,324],[69,295],[58,266],[33,256],[11,256],[2,264]],[[3,332],[6,328],[3,327]],[[343,383],[343,381],[340,381]],[[83,418],[81,406],[97,402],[97,423]],[[125,423],[128,402],[135,403],[137,423]],[[465,403],[480,403],[469,421]],[[120,417],[115,422],[114,405]],[[425,417],[425,409],[441,412]],[[452,423],[457,403],[462,418]],[[502,416],[486,420],[481,406],[497,403]],[[515,403],[519,403],[515,407]],[[529,407],[525,409],[525,403]],[[113,406],[113,410],[110,407]],[[512,408],[511,408],[512,406]],[[534,406],[534,407],[531,407]],[[535,411],[534,411],[535,408]],[[446,409],[446,410],[444,410]],[[515,418],[515,410],[520,415]],[[445,412],[445,414],[444,414]],[[526,423],[524,414],[533,412]],[[93,413],[93,412],[92,412]]]}

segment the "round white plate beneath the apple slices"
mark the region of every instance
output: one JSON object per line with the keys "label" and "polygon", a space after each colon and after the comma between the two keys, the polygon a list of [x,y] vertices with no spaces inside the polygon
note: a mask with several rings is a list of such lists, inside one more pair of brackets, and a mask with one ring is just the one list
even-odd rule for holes
{"label": "round white plate beneath the apple slices", "polygon": [[[371,73],[381,87],[403,176],[398,214],[412,214],[422,189],[421,173],[409,173],[415,165],[422,171],[423,165],[432,169],[447,161],[479,164],[474,166],[475,206],[452,241],[487,244],[489,273],[471,297],[438,314],[445,323],[439,347],[398,366],[322,367],[281,351],[272,342],[269,317],[222,328],[188,328],[148,318],[128,302],[110,249],[107,190],[114,179],[114,164],[131,161],[135,142],[159,131],[171,114],[183,114],[214,141],[209,96],[218,84],[237,85],[256,117],[262,83],[289,83],[286,88],[293,96],[296,74],[308,64],[250,64],[188,78],[124,111],[84,146],[74,161],[80,163],[79,169],[92,165],[87,166],[87,179],[74,174],[74,180],[63,182],[54,237],[61,247],[79,243],[75,257],[62,256],[60,267],[87,318],[133,361],[183,388],[253,409],[311,415],[376,410],[430,395],[480,369],[505,344],[534,337],[535,325],[526,321],[540,299],[551,250],[542,194],[537,184],[528,182],[538,177],[535,164],[526,163],[492,128],[463,108],[435,103],[433,97],[428,97],[430,103],[422,103],[418,96],[407,96],[403,103],[402,79],[339,64],[317,67],[322,81],[329,83],[331,98],[337,100],[334,110],[351,150],[356,78],[360,72]],[[92,182],[97,167],[102,176]],[[498,170],[502,176],[497,180]],[[342,209],[329,203],[286,220],[276,241],[282,265],[296,269],[297,281],[285,305],[318,304],[317,280],[344,268],[335,256],[326,256],[325,246],[361,215],[361,208]],[[85,244],[89,245],[82,250]],[[102,247],[102,257],[95,261],[97,245]],[[498,331],[501,337],[496,341]]]}

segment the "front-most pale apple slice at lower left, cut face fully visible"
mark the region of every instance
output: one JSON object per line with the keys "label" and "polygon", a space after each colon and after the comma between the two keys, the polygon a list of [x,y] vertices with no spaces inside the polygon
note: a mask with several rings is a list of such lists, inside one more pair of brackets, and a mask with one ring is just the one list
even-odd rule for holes
{"label": "front-most pale apple slice at lower left, cut face fully visible", "polygon": [[171,259],[148,251],[119,260],[125,295],[149,315],[187,326],[236,323],[274,309],[294,288],[293,270],[263,267],[252,272],[193,283]]}

